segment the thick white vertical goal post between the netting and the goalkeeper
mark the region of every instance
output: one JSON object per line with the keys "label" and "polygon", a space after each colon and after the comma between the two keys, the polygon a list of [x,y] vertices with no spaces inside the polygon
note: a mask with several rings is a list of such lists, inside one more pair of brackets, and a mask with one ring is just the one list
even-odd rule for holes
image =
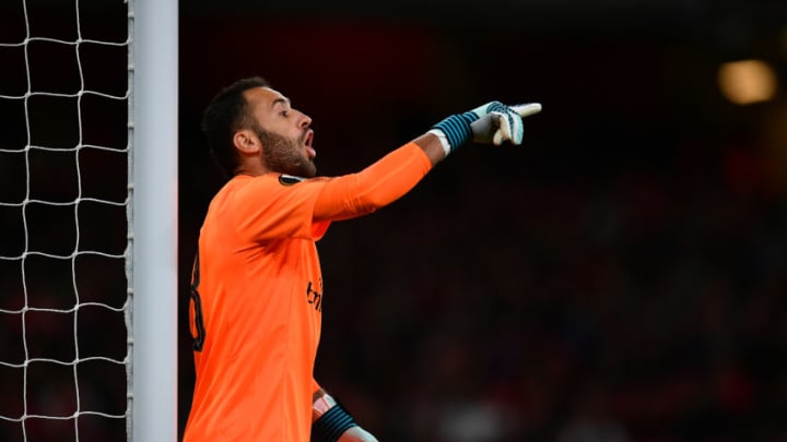
{"label": "thick white vertical goal post between the netting and the goalkeeper", "polygon": [[177,439],[178,1],[130,0],[131,440]]}

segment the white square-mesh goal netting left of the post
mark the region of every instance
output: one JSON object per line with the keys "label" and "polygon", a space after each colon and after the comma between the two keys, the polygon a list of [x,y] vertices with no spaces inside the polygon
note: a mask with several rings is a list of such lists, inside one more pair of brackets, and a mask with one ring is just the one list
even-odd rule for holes
{"label": "white square-mesh goal netting left of the post", "polygon": [[128,5],[1,3],[0,440],[125,440]]}

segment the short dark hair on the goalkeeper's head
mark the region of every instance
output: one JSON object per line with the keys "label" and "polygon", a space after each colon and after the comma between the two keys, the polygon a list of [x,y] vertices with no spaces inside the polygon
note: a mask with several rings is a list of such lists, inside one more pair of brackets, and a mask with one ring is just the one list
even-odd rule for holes
{"label": "short dark hair on the goalkeeper's head", "polygon": [[233,144],[235,132],[256,124],[243,94],[250,88],[269,86],[260,76],[238,80],[219,91],[202,114],[202,132],[208,138],[213,160],[227,177],[235,175],[238,166],[238,155]]}

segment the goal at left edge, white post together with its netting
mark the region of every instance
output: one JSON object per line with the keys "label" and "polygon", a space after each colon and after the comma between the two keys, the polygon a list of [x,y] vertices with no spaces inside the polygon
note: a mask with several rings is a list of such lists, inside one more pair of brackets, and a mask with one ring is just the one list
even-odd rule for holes
{"label": "goal at left edge, white post together with its netting", "polygon": [[0,1],[0,441],[177,440],[178,1]]}

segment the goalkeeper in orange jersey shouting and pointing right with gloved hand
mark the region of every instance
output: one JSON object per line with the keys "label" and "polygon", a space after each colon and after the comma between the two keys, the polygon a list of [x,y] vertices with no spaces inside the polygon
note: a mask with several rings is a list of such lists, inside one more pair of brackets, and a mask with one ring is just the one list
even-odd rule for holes
{"label": "goalkeeper in orange jersey shouting and pointing right with gloved hand", "polygon": [[522,142],[538,104],[450,116],[365,169],[316,177],[312,119],[260,77],[222,89],[202,130],[230,180],[210,203],[191,282],[196,385],[185,442],[376,441],[313,378],[326,301],[316,241],[410,191],[469,141]]}

